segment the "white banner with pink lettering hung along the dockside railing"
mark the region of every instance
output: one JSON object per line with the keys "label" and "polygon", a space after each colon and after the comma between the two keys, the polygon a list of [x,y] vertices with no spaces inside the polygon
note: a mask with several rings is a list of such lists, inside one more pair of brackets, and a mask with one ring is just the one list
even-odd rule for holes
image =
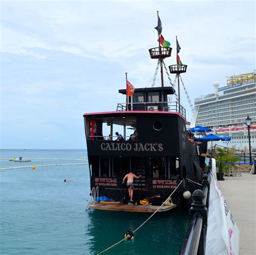
{"label": "white banner with pink lettering hung along the dockside railing", "polygon": [[239,230],[213,176],[208,209],[205,254],[239,254]]}

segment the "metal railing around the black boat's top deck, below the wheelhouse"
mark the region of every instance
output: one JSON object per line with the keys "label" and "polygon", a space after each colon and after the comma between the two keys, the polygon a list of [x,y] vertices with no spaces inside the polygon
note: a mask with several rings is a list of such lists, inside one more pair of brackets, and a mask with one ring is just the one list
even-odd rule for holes
{"label": "metal railing around the black boat's top deck, below the wheelhouse", "polygon": [[179,102],[136,102],[136,103],[119,103],[117,111],[162,111],[162,112],[178,112],[186,117],[186,109]]}

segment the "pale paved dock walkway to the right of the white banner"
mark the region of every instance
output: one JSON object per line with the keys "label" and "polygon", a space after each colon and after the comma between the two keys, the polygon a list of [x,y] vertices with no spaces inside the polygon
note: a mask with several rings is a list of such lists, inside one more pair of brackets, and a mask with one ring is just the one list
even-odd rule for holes
{"label": "pale paved dock walkway to the right of the white banner", "polygon": [[218,181],[240,232],[240,255],[256,254],[256,175],[241,173]]}

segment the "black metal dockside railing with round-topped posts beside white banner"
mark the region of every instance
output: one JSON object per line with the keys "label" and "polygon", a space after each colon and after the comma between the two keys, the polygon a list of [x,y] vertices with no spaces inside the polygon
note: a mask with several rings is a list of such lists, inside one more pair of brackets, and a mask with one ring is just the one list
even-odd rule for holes
{"label": "black metal dockside railing with round-topped posts beside white banner", "polygon": [[207,174],[203,175],[202,190],[195,190],[192,195],[190,226],[179,254],[205,254],[211,170],[212,159],[210,158]]}

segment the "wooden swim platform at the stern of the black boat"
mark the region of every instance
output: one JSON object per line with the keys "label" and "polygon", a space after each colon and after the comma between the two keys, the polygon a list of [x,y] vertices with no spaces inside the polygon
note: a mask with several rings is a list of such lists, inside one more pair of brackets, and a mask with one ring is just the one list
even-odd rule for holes
{"label": "wooden swim platform at the stern of the black boat", "polygon": [[[89,208],[96,209],[96,210],[106,210],[106,211],[155,212],[159,208],[159,206],[158,205],[96,203],[96,204],[89,204]],[[165,212],[174,208],[176,208],[176,204],[163,205],[158,212]]]}

